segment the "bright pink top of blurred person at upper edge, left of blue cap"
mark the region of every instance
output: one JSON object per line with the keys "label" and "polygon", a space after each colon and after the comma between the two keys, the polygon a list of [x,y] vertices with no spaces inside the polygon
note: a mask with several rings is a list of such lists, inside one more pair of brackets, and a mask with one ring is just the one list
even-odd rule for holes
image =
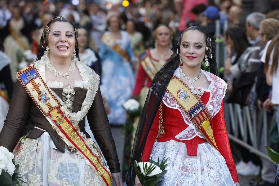
{"label": "bright pink top of blurred person at upper edge, left of blue cap", "polygon": [[195,19],[194,14],[191,12],[193,7],[197,4],[205,4],[208,5],[208,0],[174,0],[175,9],[177,14],[180,17],[179,22],[179,32],[180,34],[187,28],[187,24],[192,22]]}

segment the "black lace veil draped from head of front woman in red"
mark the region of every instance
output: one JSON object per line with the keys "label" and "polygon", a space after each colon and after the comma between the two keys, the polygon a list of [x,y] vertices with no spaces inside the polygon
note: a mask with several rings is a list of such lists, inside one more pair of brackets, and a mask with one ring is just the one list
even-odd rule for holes
{"label": "black lace veil draped from head of front woman in red", "polygon": [[[206,29],[199,25],[195,24],[188,29],[186,29],[182,35],[190,30],[198,30],[202,32],[206,36],[206,46],[210,47],[210,50],[206,50],[206,55],[210,56],[212,54],[212,59],[209,57],[208,61],[210,63],[210,72],[218,75],[218,69],[215,59],[215,37],[210,36]],[[181,36],[182,36],[181,35]],[[166,92],[166,88],[170,82],[170,79],[172,78],[175,70],[180,65],[179,60],[179,53],[180,53],[180,41],[181,37],[179,38],[177,46],[173,48],[174,53],[170,56],[170,58],[166,61],[166,63],[163,65],[163,67],[157,72],[154,76],[154,79],[152,81],[152,84],[150,86],[143,111],[141,113],[141,117],[139,120],[139,124],[135,133],[135,140],[134,145],[132,149],[132,156],[131,156],[131,164],[128,171],[126,184],[128,186],[134,186],[135,185],[135,168],[133,166],[134,160],[137,160],[140,162],[141,156],[144,150],[144,146],[146,143],[146,139],[148,136],[148,133],[150,131],[150,128],[153,124],[153,120],[155,118],[155,115],[157,113],[157,110],[162,102],[162,98]]]}

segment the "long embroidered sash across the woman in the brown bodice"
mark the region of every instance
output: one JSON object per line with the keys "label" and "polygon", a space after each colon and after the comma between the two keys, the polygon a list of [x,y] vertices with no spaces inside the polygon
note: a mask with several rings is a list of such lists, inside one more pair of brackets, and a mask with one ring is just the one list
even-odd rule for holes
{"label": "long embroidered sash across the woman in the brown bodice", "polygon": [[50,122],[52,128],[68,145],[71,152],[75,152],[95,171],[104,186],[111,186],[110,171],[102,164],[101,155],[93,153],[93,148],[82,136],[78,125],[70,117],[69,111],[51,93],[34,64],[30,64],[15,74],[31,99]]}

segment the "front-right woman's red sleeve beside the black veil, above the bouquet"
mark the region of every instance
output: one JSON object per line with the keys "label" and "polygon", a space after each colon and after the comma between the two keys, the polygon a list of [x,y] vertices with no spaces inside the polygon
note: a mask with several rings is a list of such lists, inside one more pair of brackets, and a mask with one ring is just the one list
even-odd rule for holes
{"label": "front-right woman's red sleeve beside the black veil, above the bouquet", "polygon": [[[162,113],[164,113],[164,108],[165,104],[162,104]],[[150,131],[148,133],[145,145],[144,145],[144,150],[142,153],[142,161],[148,162],[154,142],[157,138],[158,135],[158,130],[159,130],[159,108],[157,110],[156,116],[153,120],[152,126],[150,128]],[[144,128],[145,131],[145,128]]]}

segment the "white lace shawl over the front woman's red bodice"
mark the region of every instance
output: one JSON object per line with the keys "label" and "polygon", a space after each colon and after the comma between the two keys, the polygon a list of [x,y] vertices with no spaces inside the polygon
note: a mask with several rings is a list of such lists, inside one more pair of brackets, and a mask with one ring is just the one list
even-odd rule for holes
{"label": "white lace shawl over the front woman's red bodice", "polygon": [[[209,110],[212,117],[214,117],[220,110],[222,100],[225,97],[226,89],[227,89],[227,83],[224,82],[221,78],[218,76],[215,76],[212,73],[209,73],[207,71],[201,70],[201,72],[206,76],[208,81],[210,81],[210,85],[208,86],[208,89],[204,89],[202,87],[199,87],[203,91],[210,92],[209,100],[206,104],[206,108]],[[179,68],[175,70],[174,73],[175,76],[180,78]],[[175,99],[169,95],[167,92],[163,96],[163,103],[173,109],[178,109],[184,119],[184,122],[188,125],[188,127],[180,132],[178,135],[175,136],[175,138],[179,140],[189,140],[193,139],[195,136],[199,136],[201,138],[204,138],[200,131],[195,127],[195,125],[191,122],[187,114],[183,111],[182,108],[178,104],[176,104]]]}

